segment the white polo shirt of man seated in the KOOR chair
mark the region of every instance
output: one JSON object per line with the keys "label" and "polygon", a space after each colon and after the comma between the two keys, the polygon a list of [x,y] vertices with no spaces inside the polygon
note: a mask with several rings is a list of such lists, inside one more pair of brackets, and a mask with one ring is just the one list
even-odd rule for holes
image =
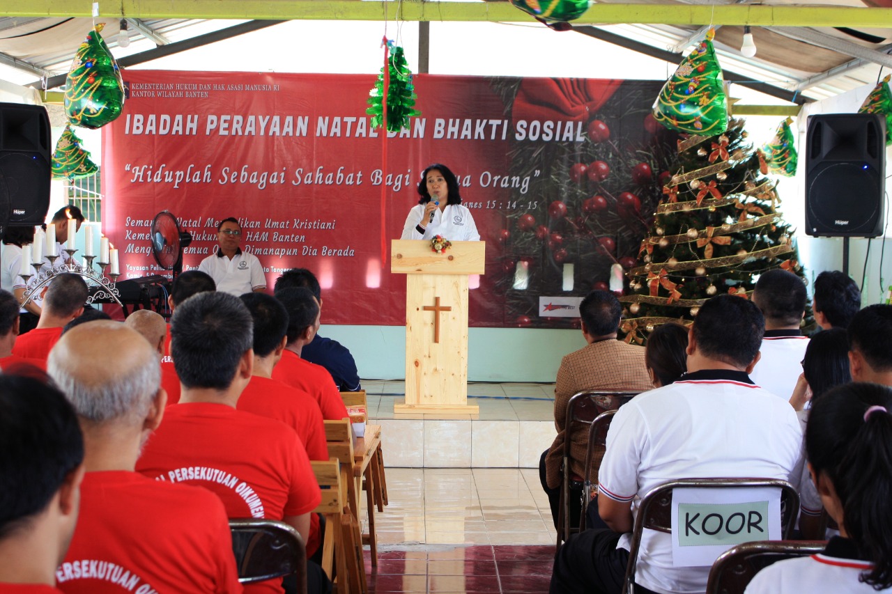
{"label": "white polo shirt of man seated in the KOOR chair", "polygon": [[[599,470],[599,496],[632,502],[682,478],[789,480],[802,452],[793,407],[742,371],[705,370],[639,394],[616,411]],[[617,549],[630,549],[624,534]],[[672,535],[645,530],[635,582],[663,593],[703,592],[709,567],[673,567]]]}

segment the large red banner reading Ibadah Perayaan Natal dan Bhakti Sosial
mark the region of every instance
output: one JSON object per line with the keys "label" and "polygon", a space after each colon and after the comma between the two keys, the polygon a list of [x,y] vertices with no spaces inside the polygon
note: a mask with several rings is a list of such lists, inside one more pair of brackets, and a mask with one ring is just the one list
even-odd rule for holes
{"label": "large red banner reading Ibadah Perayaan Natal dan Bhakti Sosial", "polygon": [[[607,281],[610,264],[637,255],[647,222],[640,212],[652,212],[659,196],[649,177],[638,186],[633,179],[636,159],[662,169],[665,139],[646,128],[657,83],[418,75],[422,115],[386,140],[383,169],[382,131],[365,113],[373,77],[129,70],[124,78],[128,100],[103,128],[102,167],[103,227],[120,249],[123,277],[165,274],[148,236],[159,211],[194,235],[186,269],[214,252],[219,220],[236,217],[243,249],[258,256],[269,286],[283,269],[316,273],[326,323],[405,322],[405,278],[381,262],[382,225],[388,238],[400,237],[434,161],[458,175],[487,242],[487,274],[471,292],[473,326],[559,320],[537,316],[539,297],[584,295]],[[600,126],[592,130],[593,122]],[[574,161],[605,151],[619,186],[573,181]],[[644,204],[632,214],[620,199],[625,186]],[[608,211],[583,213],[595,192]],[[600,233],[614,238],[612,251],[598,247]],[[525,285],[518,261],[527,262]],[[565,291],[555,267],[566,276],[570,262],[578,278]]]}

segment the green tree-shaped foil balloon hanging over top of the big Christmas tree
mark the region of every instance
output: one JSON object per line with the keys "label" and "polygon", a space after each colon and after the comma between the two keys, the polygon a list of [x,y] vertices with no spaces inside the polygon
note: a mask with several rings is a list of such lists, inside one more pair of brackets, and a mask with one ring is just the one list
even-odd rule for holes
{"label": "green tree-shaped foil balloon hanging over top of the big Christmas tree", "polygon": [[679,64],[654,103],[654,118],[666,128],[713,136],[728,128],[722,68],[715,59],[714,30]]}

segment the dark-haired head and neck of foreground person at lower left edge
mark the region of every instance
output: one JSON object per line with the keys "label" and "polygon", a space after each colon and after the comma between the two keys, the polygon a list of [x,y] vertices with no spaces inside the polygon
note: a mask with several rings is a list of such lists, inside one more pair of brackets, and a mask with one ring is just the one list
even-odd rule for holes
{"label": "dark-haired head and neck of foreground person at lower left edge", "polygon": [[0,593],[49,594],[78,520],[84,441],[62,392],[0,375]]}

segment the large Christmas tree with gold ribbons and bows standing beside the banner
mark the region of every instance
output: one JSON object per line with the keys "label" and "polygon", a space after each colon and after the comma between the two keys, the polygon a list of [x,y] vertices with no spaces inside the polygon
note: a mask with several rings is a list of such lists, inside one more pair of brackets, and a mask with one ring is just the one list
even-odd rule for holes
{"label": "large Christmas tree with gold ribbons and bows standing beside the banner", "polygon": [[646,342],[666,322],[690,323],[713,295],[749,299],[766,270],[805,280],[764,155],[747,142],[743,124],[731,120],[722,135],[679,141],[677,166],[629,274],[631,292],[620,298],[627,342]]}

